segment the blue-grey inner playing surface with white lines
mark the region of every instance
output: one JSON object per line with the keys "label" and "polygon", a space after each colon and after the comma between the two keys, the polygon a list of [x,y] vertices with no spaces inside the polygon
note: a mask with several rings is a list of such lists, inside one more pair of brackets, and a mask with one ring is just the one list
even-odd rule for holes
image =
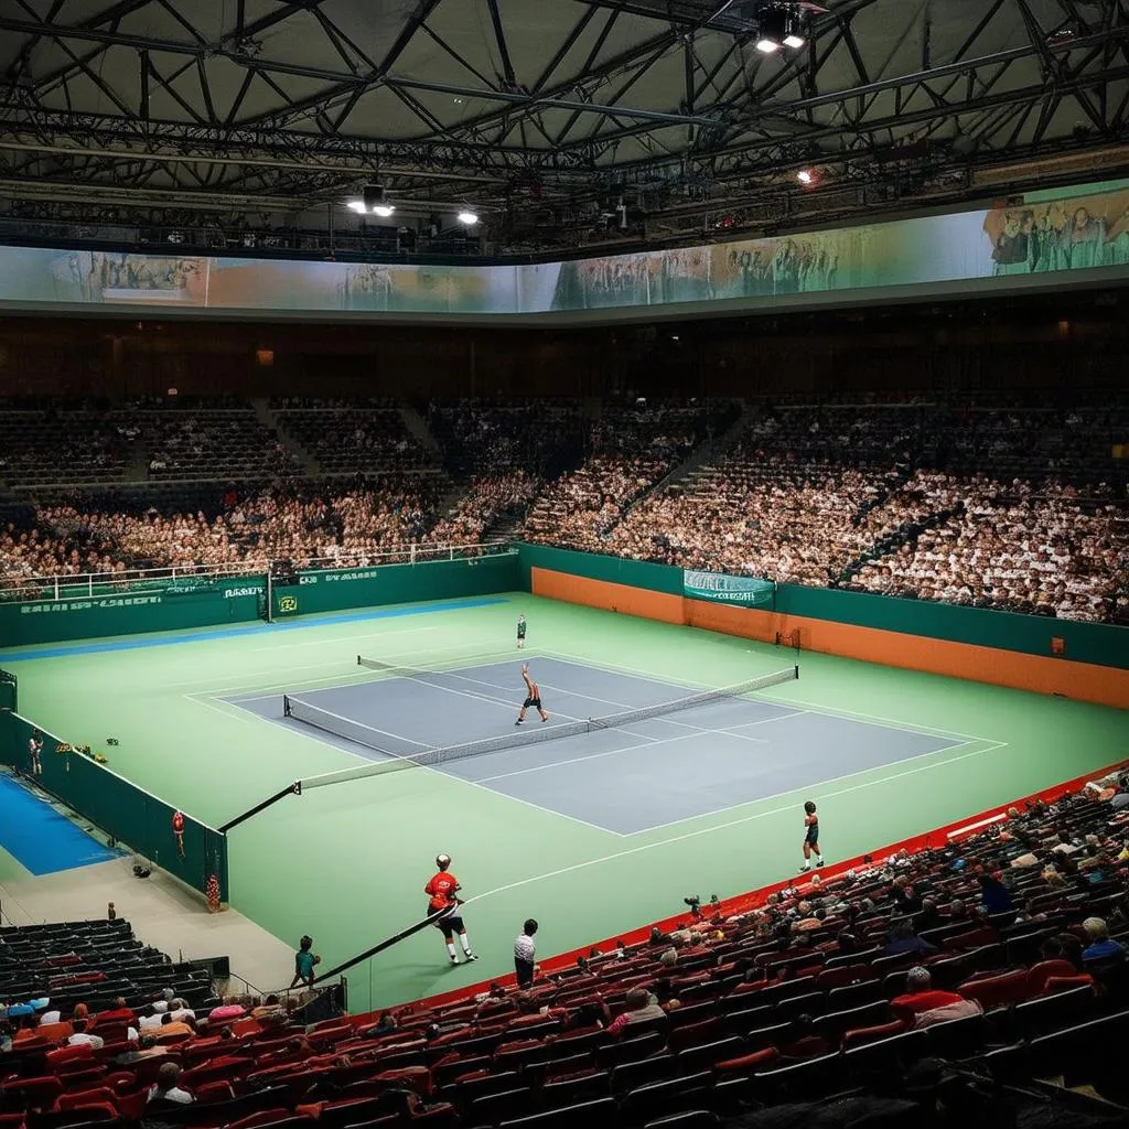
{"label": "blue-grey inner playing surface with white lines", "polygon": [[[685,698],[695,691],[641,675],[531,656],[550,714],[527,728],[561,725]],[[795,683],[785,683],[786,689]],[[509,736],[525,697],[518,659],[301,691],[295,697],[367,727],[396,756]],[[281,694],[224,699],[368,760],[364,745],[283,716]],[[770,697],[725,698],[621,728],[478,754],[439,765],[460,780],[620,835],[814,788],[960,745],[922,733],[788,706]]]}

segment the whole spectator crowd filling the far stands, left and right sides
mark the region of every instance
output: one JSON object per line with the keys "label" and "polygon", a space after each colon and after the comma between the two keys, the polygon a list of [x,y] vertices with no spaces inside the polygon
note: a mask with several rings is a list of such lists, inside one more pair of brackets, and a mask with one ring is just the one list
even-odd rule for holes
{"label": "whole spectator crowd filling the far stands, left and right sides", "polygon": [[[275,406],[283,430],[300,432],[326,467],[422,469],[423,448],[385,401]],[[1038,396],[987,406],[763,403],[714,462],[656,489],[691,454],[708,453],[736,412],[729,402],[629,397],[581,425],[568,400],[432,402],[427,419],[464,487],[438,514],[443,482],[427,473],[393,473],[352,493],[299,483],[285,445],[238,405],[91,411],[86,435],[105,432],[114,458],[148,436],[154,461],[166,462],[150,465],[155,478],[207,464],[217,480],[247,484],[254,471],[273,487],[215,511],[41,498],[33,524],[0,533],[0,585],[474,543],[513,527],[532,541],[676,566],[1129,622],[1129,496],[1110,458],[1112,440],[1129,434],[1129,408],[1117,397],[1060,409]],[[0,427],[25,418],[0,413]],[[158,435],[164,447],[154,445]],[[225,461],[220,450],[231,446],[240,454]],[[17,443],[0,458],[26,449]],[[97,439],[90,449],[100,457]]]}

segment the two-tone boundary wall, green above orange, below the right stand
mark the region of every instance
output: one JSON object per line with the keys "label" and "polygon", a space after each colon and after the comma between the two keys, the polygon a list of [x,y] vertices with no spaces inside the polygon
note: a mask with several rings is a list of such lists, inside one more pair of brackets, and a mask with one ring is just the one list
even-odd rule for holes
{"label": "two-tone boundary wall, green above orange, below the right stand", "polygon": [[692,599],[682,570],[520,546],[537,596],[1013,690],[1129,708],[1129,629],[781,584],[771,610]]}

